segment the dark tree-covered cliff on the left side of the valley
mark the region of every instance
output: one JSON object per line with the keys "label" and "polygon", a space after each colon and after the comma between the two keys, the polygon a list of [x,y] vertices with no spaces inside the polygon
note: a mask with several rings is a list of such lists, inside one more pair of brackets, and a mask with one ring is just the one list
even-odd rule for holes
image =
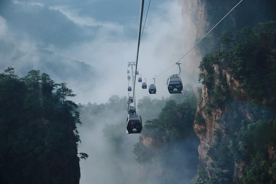
{"label": "dark tree-covered cliff on the left side of the valley", "polygon": [[78,184],[78,107],[66,83],[13,67],[0,74],[0,183]]}

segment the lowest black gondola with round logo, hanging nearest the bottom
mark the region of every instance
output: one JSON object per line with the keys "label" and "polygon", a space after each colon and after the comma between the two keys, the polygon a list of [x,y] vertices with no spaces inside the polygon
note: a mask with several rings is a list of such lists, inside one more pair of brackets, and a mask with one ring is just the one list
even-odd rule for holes
{"label": "lowest black gondola with round logo, hanging nearest the bottom", "polygon": [[140,114],[128,114],[126,126],[127,134],[141,133],[143,126]]}

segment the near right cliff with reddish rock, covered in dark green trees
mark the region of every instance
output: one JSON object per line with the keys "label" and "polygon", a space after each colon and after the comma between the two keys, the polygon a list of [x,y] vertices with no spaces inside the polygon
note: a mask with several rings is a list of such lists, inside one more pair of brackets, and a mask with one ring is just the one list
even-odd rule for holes
{"label": "near right cliff with reddish rock, covered in dark green trees", "polygon": [[197,183],[275,183],[276,22],[220,38],[200,64]]}

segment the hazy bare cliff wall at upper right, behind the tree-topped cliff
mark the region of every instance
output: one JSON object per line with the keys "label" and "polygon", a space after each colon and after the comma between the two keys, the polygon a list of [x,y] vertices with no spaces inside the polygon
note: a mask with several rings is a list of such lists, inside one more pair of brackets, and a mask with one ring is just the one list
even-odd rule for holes
{"label": "hazy bare cliff wall at upper right, behind the tree-topped cliff", "polygon": [[[182,7],[183,34],[182,50],[186,53],[199,41],[238,1],[232,0],[178,0]],[[193,76],[199,72],[202,56],[218,48],[220,36],[227,30],[244,26],[255,26],[258,22],[274,20],[276,4],[273,0],[243,1],[205,39],[182,59],[183,70]]]}

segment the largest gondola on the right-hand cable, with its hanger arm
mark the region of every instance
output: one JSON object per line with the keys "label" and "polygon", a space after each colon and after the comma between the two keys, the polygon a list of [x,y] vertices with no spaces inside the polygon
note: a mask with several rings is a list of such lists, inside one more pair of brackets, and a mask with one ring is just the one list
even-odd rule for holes
{"label": "largest gondola on the right-hand cable, with its hanger arm", "polygon": [[[179,74],[180,74],[180,72],[181,72],[180,64],[181,63],[177,63],[177,64],[179,67]],[[179,74],[171,75],[167,79],[167,87],[168,87],[168,91],[170,94],[182,93],[183,84],[182,84]]]}

